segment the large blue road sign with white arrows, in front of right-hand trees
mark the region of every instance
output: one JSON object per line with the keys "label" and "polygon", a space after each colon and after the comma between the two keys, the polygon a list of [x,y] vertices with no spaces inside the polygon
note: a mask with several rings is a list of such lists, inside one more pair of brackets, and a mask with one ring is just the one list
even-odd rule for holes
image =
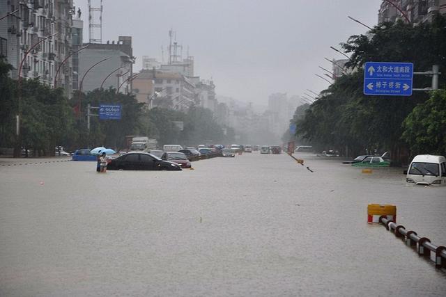
{"label": "large blue road sign with white arrows, in front of right-hand trees", "polygon": [[413,63],[365,63],[365,95],[410,96],[412,84]]}

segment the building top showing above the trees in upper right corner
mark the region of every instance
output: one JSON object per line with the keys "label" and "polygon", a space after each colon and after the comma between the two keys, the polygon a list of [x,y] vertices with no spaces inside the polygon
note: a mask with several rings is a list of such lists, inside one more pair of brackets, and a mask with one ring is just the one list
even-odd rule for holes
{"label": "building top showing above the trees in upper right corner", "polygon": [[[446,14],[446,0],[394,0],[393,3],[415,24],[431,22],[437,13]],[[399,19],[405,21],[406,17],[391,3],[383,1],[378,11],[378,23],[397,22]]]}

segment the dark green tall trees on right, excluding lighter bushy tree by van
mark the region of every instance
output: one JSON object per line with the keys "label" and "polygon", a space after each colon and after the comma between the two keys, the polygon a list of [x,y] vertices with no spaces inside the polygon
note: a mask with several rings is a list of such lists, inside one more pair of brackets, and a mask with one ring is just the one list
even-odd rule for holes
{"label": "dark green tall trees on right, excluding lighter bushy tree by van", "polygon": [[[362,67],[367,61],[411,62],[415,71],[431,70],[438,64],[440,72],[445,72],[446,18],[436,17],[431,24],[416,26],[403,22],[380,24],[367,35],[351,36],[342,47],[351,53],[346,67],[352,73],[338,78],[309,107],[304,119],[295,120],[298,134],[325,149],[348,147],[353,153],[390,150],[394,158],[403,159],[408,136],[401,138],[402,124],[429,95],[414,92],[411,97],[365,96]],[[414,77],[414,88],[430,84],[429,77]],[[445,76],[440,77],[440,86],[446,86]]]}

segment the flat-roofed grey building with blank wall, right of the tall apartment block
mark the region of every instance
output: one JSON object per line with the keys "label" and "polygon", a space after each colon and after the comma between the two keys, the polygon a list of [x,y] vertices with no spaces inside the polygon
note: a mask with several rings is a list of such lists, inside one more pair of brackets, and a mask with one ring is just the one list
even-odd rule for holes
{"label": "flat-roofed grey building with blank wall, right of the tall apartment block", "polygon": [[[120,93],[132,93],[132,79],[134,56],[132,49],[132,38],[130,36],[119,36],[118,42],[88,43],[82,45],[86,49],[79,51],[79,87],[82,82],[82,90],[88,92],[100,88],[116,88]],[[95,63],[107,59],[96,65],[86,74]],[[86,77],[84,77],[86,74]],[[82,78],[84,77],[84,81]]]}

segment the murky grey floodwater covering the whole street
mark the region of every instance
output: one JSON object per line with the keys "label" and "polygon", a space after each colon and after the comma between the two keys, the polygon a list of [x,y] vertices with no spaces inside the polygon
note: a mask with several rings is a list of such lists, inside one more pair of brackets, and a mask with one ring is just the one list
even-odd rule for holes
{"label": "murky grey floodwater covering the whole street", "polygon": [[446,246],[446,187],[298,157],[0,166],[0,296],[445,296],[446,273],[367,224],[367,204]]}

